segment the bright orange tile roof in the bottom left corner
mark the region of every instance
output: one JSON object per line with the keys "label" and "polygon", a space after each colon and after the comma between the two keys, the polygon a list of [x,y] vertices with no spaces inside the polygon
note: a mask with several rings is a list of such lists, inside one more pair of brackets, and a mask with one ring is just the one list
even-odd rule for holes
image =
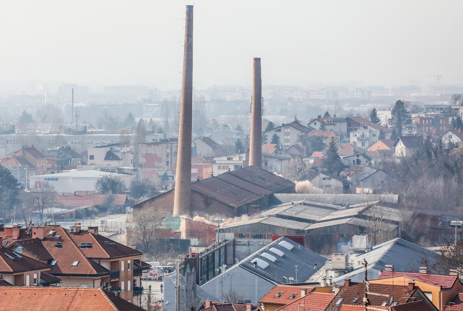
{"label": "bright orange tile roof in the bottom left corner", "polygon": [[144,310],[112,293],[104,292],[101,288],[0,286],[0,296],[0,311]]}

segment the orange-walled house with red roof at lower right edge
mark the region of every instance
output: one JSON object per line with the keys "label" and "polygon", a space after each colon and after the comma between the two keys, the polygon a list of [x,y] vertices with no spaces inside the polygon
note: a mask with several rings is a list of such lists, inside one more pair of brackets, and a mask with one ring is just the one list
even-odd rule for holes
{"label": "orange-walled house with red roof at lower right edge", "polygon": [[450,275],[429,274],[427,267],[420,267],[419,273],[407,273],[401,271],[382,271],[375,280],[369,280],[370,284],[396,284],[407,286],[413,282],[431,300],[438,310],[444,310],[445,306],[463,292],[463,284],[460,281],[457,270],[450,271]]}

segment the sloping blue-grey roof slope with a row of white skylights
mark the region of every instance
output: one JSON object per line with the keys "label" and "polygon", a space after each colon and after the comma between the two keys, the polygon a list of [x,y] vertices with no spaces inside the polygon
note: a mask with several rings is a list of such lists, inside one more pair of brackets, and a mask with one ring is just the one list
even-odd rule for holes
{"label": "sloping blue-grey roof slope with a row of white skylights", "polygon": [[[289,244],[293,246],[293,249],[289,250],[279,243],[285,243],[286,245]],[[282,257],[276,255],[269,250],[271,248],[279,250],[280,252],[284,253],[284,255]],[[268,260],[261,255],[262,253],[268,253],[269,255],[272,255],[276,258],[276,261],[272,262]],[[256,258],[268,263],[268,267],[254,267],[252,262]],[[317,270],[325,264],[326,261],[327,259],[325,257],[311,251],[310,249],[300,246],[298,243],[295,243],[286,237],[280,237],[272,243],[267,244],[262,249],[259,249],[256,253],[244,258],[236,265],[276,285],[287,283],[287,281],[282,278],[283,276],[287,278],[294,277],[294,280],[296,280],[296,271],[294,265],[298,265],[297,280],[300,282],[305,282],[313,274],[315,274]],[[314,264],[317,264],[317,269],[313,268]]]}

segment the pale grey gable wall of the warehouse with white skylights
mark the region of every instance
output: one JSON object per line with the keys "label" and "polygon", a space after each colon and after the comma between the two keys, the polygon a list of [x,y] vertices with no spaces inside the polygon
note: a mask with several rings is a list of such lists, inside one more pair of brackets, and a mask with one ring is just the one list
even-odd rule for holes
{"label": "pale grey gable wall of the warehouse with white skylights", "polygon": [[[226,276],[234,274],[234,277]],[[250,272],[235,266],[225,271],[225,274],[210,280],[202,288],[215,295],[217,298],[223,298],[223,294],[230,292],[230,288],[244,295],[244,300],[250,300],[250,303],[257,305],[258,301],[274,286],[266,280],[251,274]],[[222,300],[223,301],[223,300]]]}

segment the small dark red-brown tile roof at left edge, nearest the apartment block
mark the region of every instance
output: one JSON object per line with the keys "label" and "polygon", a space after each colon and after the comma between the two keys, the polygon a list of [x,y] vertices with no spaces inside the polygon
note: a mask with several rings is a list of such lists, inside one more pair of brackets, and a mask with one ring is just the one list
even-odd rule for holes
{"label": "small dark red-brown tile roof at left edge, nearest the apartment block", "polygon": [[[22,258],[19,258],[21,256]],[[0,249],[0,273],[19,273],[32,270],[48,270],[50,266],[21,254],[15,255],[11,249]],[[12,258],[10,258],[12,257]]]}

